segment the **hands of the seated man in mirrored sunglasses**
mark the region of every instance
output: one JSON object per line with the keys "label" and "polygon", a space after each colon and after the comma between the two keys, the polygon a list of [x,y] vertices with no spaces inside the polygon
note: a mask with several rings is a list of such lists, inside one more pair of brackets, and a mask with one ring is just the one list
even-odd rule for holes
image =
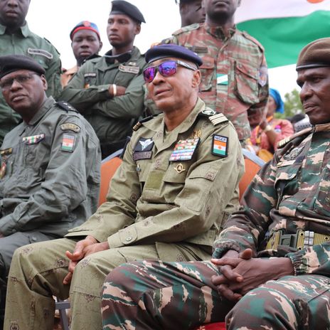
{"label": "hands of the seated man in mirrored sunglasses", "polygon": [[82,260],[84,257],[87,257],[87,255],[91,255],[92,253],[108,249],[109,244],[107,242],[98,243],[97,240],[92,236],[87,236],[85,240],[80,240],[75,245],[75,250],[73,252],[65,252],[65,255],[70,259],[70,262],[68,266],[69,272],[68,275],[64,277],[63,284],[70,284],[75,266],[77,266],[80,260]]}

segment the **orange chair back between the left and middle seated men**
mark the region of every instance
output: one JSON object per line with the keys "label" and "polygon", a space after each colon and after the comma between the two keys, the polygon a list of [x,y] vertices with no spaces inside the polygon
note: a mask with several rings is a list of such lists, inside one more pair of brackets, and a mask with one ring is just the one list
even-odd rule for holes
{"label": "orange chair back between the left and middle seated men", "polygon": [[122,159],[119,158],[120,154],[122,154],[122,149],[102,160],[99,206],[107,201],[111,178],[119,165],[122,164]]}

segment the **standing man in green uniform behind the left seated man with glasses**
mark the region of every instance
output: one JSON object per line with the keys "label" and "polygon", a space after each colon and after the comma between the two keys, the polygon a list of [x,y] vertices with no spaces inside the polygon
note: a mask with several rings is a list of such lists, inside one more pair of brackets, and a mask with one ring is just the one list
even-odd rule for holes
{"label": "standing man in green uniform behind the left seated man with glasses", "polygon": [[[48,96],[58,97],[60,85],[60,56],[46,39],[31,32],[26,23],[30,0],[0,1],[0,55],[27,55],[44,69],[48,82]],[[0,146],[4,136],[19,122],[21,116],[7,105],[0,92]]]}

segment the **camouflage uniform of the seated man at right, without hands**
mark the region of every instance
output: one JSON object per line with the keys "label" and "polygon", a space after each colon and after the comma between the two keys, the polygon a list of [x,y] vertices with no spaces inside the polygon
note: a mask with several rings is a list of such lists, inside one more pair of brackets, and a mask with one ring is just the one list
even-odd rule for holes
{"label": "camouflage uniform of the seated man at right, without hands", "polygon": [[[252,289],[233,307],[211,283],[220,275],[211,262],[122,265],[105,282],[104,329],[193,329],[224,320],[230,330],[330,329],[329,138],[330,124],[290,138],[255,176],[244,211],[232,215],[215,241],[213,257],[251,248],[257,257],[289,257],[294,276]],[[324,243],[299,247],[298,230],[322,235]],[[272,248],[275,233],[287,236]]]}

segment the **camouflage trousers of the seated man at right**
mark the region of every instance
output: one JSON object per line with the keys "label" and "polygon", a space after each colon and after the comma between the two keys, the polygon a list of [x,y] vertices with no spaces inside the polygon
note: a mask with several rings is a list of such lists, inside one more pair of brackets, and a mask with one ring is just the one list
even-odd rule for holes
{"label": "camouflage trousers of the seated man at right", "polygon": [[330,329],[330,280],[287,276],[251,290],[237,304],[211,283],[211,262],[129,262],[107,276],[103,329],[194,329],[225,321],[227,329]]}

